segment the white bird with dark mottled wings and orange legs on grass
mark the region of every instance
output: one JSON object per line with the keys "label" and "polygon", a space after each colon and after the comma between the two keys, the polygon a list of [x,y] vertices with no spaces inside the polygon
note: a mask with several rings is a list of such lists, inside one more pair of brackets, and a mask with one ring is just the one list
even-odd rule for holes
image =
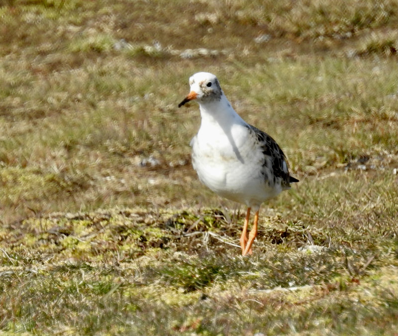
{"label": "white bird with dark mottled wings and orange legs on grass", "polygon": [[[226,98],[217,77],[199,72],[189,79],[190,93],[178,104],[199,103],[201,122],[191,140],[192,164],[199,180],[216,194],[247,206],[240,237],[242,255],[252,254],[260,205],[298,179],[290,176],[276,141],[246,123]],[[251,211],[253,227],[247,235]]]}

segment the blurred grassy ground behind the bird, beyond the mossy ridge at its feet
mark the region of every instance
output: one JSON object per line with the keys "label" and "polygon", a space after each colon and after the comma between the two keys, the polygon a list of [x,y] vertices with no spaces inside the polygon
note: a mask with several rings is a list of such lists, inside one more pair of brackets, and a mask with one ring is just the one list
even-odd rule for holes
{"label": "blurred grassy ground behind the bird, beyond the mossy ridge at its feet", "polygon": [[177,104],[198,71],[300,180],[391,172],[397,13],[395,0],[2,0],[1,220],[236,207],[191,166],[199,108]]}

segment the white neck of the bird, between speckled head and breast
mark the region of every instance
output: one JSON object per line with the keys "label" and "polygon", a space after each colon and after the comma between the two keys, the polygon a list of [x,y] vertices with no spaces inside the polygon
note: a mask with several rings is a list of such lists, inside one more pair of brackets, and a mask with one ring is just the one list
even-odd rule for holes
{"label": "white neck of the bird, between speckled head and breast", "polygon": [[245,121],[235,112],[223,94],[220,100],[201,102],[199,108],[202,126],[217,124],[225,129],[234,124],[245,124]]}

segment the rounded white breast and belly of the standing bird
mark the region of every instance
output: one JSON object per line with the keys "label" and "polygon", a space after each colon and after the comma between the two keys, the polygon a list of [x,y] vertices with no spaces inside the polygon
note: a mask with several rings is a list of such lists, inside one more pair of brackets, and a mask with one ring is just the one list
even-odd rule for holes
{"label": "rounded white breast and belly of the standing bird", "polygon": [[282,191],[264,177],[264,155],[245,124],[202,124],[191,144],[200,181],[220,196],[257,207]]}

